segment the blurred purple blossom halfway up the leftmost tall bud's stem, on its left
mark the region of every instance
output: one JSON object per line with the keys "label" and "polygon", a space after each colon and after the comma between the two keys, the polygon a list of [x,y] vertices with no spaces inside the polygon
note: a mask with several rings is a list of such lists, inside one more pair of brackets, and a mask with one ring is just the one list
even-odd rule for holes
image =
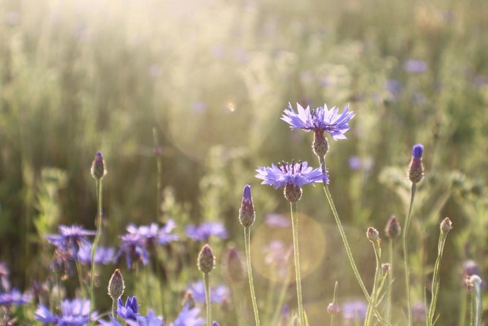
{"label": "blurred purple blossom halfway up the leftmost tall bud's stem, on its left", "polygon": [[87,236],[95,236],[96,231],[85,230],[79,225],[60,225],[58,227],[60,234],[48,234],[44,238],[48,239],[49,243],[58,248],[69,247],[73,253],[78,253],[82,243],[89,243]]}

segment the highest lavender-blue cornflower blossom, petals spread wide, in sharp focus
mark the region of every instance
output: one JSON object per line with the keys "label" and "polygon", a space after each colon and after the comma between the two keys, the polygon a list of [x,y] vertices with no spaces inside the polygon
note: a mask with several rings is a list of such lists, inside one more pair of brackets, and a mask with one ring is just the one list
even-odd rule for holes
{"label": "highest lavender-blue cornflower blossom, petals spread wide, in sharp focus", "polygon": [[328,110],[326,104],[324,104],[324,108],[318,107],[310,111],[309,106],[304,109],[297,103],[298,113],[295,112],[291,103],[288,106],[289,110],[285,109],[285,114],[283,114],[281,119],[289,123],[291,129],[302,128],[305,131],[327,131],[334,140],[346,139],[344,133],[351,128],[348,122],[354,117],[354,112],[347,111],[349,104],[346,105],[341,115],[338,114],[339,109],[333,107]]}

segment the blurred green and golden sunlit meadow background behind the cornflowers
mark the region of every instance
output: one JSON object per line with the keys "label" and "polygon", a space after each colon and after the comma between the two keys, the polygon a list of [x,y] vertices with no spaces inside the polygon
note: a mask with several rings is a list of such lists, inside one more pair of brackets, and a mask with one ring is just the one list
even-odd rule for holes
{"label": "blurred green and golden sunlit meadow background behind the cornflowers", "polygon": [[[170,316],[187,284],[201,278],[202,243],[187,238],[186,225],[221,221],[228,231],[209,240],[218,265],[212,285],[225,284],[227,242],[244,251],[238,210],[246,183],[256,210],[251,257],[261,315],[281,311],[283,288],[284,303],[296,310],[293,274],[290,282],[278,273],[280,264],[293,264],[283,254],[291,226],[266,223],[270,214],[289,218],[289,204],[281,191],[260,185],[255,170],[292,159],[318,166],[312,133],[280,120],[288,102],[340,112],[349,103],[356,116],[348,139],[329,138],[326,162],[366,287],[375,266],[366,229],[377,228],[386,241],[391,215],[403,225],[411,147],[422,143],[426,178],[409,232],[412,298],[424,301],[439,223],[450,217],[438,325],[460,325],[468,297],[463,263],[475,261],[482,278],[488,268],[488,1],[1,0],[0,37],[0,261],[15,287],[52,277],[45,234],[60,224],[95,229],[90,166],[101,151],[108,172],[103,245],[117,248],[129,223],[177,224],[180,241],[165,255],[176,252],[188,263],[183,269],[167,258],[165,267],[179,273],[168,291]],[[310,325],[328,325],[335,281],[339,304],[364,299],[321,188],[304,186],[299,204]],[[392,300],[394,313],[403,314],[397,247]],[[110,308],[106,283],[115,268],[127,274],[129,291],[137,280],[124,259],[102,266],[99,310]],[[77,284],[63,283],[67,297]],[[241,293],[251,325],[245,282]],[[221,305],[214,319],[236,325],[228,313],[236,307]],[[25,320],[34,309],[26,308]]]}

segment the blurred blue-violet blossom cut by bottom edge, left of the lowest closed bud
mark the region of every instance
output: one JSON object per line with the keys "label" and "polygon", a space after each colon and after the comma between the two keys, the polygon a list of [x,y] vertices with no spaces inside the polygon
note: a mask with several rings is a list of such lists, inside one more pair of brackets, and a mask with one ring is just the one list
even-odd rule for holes
{"label": "blurred blue-violet blossom cut by bottom edge, left of the lowest closed bud", "polygon": [[[91,314],[91,319],[96,319],[96,312]],[[90,300],[65,299],[61,302],[61,314],[53,314],[45,305],[39,305],[34,319],[44,324],[56,326],[82,326],[90,321]]]}

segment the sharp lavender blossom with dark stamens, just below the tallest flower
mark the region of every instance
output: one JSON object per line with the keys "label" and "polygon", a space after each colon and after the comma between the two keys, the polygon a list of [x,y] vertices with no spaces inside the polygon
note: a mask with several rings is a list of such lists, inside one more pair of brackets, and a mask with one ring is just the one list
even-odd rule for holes
{"label": "sharp lavender blossom with dark stamens, just below the tallest flower", "polygon": [[302,185],[315,182],[329,183],[327,172],[322,173],[322,168],[313,169],[308,167],[307,162],[288,164],[282,162],[278,166],[271,164],[271,167],[258,167],[255,175],[258,179],[263,179],[261,184],[274,185],[275,189],[282,188],[287,184],[301,188]]}

